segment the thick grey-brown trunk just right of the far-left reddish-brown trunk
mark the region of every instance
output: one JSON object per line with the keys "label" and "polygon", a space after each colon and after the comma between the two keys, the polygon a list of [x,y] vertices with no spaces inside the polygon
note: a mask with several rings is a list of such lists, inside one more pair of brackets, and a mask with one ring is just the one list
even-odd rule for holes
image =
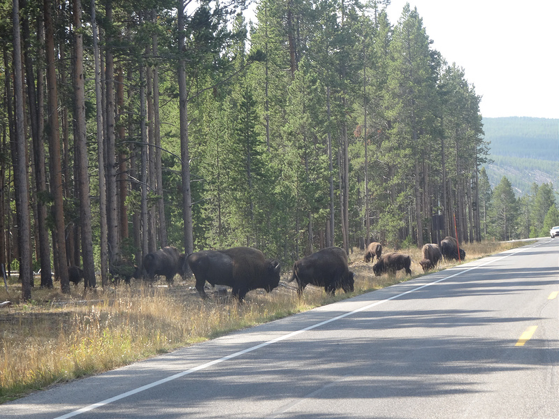
{"label": "thick grey-brown trunk just right of the far-left reddish-brown trunk", "polygon": [[89,175],[87,159],[87,133],[85,131],[85,92],[83,75],[82,2],[73,0],[74,26],[74,100],[75,100],[75,145],[77,152],[78,190],[80,191],[80,228],[82,233],[82,260],[85,288],[95,288],[95,266],[93,260],[92,209],[89,200]]}

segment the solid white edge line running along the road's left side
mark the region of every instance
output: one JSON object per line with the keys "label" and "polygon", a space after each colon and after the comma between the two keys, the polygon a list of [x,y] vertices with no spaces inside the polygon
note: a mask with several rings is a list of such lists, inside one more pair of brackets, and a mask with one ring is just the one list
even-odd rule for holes
{"label": "solid white edge line running along the road's left side", "polygon": [[[537,244],[536,244],[535,246],[537,246]],[[533,246],[533,247],[535,247],[535,246]],[[332,323],[333,321],[340,320],[340,318],[345,318],[345,317],[347,317],[347,316],[351,316],[352,314],[356,314],[356,313],[359,313],[359,312],[361,312],[361,311],[365,311],[365,310],[367,310],[367,309],[370,309],[370,308],[372,308],[372,307],[376,307],[376,306],[378,306],[378,305],[380,305],[380,304],[383,304],[383,303],[385,303],[385,302],[388,302],[388,301],[391,301],[391,300],[395,300],[396,298],[402,297],[402,296],[407,295],[407,294],[414,293],[415,291],[419,291],[419,290],[421,290],[421,289],[423,289],[423,288],[427,288],[428,286],[432,286],[432,285],[435,285],[435,284],[439,284],[440,282],[446,281],[447,279],[451,279],[451,278],[453,278],[453,277],[458,277],[458,275],[465,274],[466,272],[470,272],[470,271],[475,270],[475,269],[477,269],[477,268],[479,268],[479,267],[483,267],[483,266],[489,265],[490,263],[497,262],[498,260],[502,260],[502,259],[504,259],[504,258],[508,258],[509,256],[515,255],[516,253],[521,253],[522,251],[524,251],[524,250],[526,250],[526,249],[532,249],[532,247],[521,247],[521,248],[519,248],[517,251],[514,251],[514,252],[512,252],[512,253],[507,253],[506,255],[500,256],[499,258],[495,258],[495,259],[488,260],[486,263],[481,263],[481,265],[476,265],[476,266],[470,267],[470,268],[468,268],[468,269],[466,269],[466,270],[460,270],[460,272],[456,272],[456,274],[452,274],[452,275],[449,275],[448,277],[444,277],[444,278],[442,278],[442,279],[438,279],[437,281],[429,282],[428,284],[423,284],[423,285],[418,286],[418,287],[416,287],[416,288],[414,288],[414,289],[412,289],[412,290],[406,291],[405,293],[400,293],[400,294],[398,294],[398,295],[393,295],[392,297],[386,298],[385,300],[379,300],[379,301],[377,301],[377,302],[372,302],[371,304],[367,304],[366,306],[363,306],[363,307],[361,307],[361,308],[359,308],[359,309],[355,309],[355,310],[353,310],[353,311],[348,311],[347,313],[340,314],[340,316],[335,316],[335,317],[333,317],[333,318],[329,318],[328,320],[321,321],[320,323],[315,323],[314,325],[307,326],[307,328],[303,328],[303,329],[300,329],[300,330],[296,330],[295,332],[291,332],[291,333],[288,333],[287,335],[282,335],[282,336],[276,337],[275,339],[272,339],[272,340],[263,342],[262,344],[255,345],[255,346],[251,346],[250,348],[243,349],[242,351],[238,351],[238,352],[235,352],[235,353],[231,353],[230,355],[226,355],[226,356],[224,356],[223,358],[219,358],[219,359],[217,359],[217,360],[212,360],[212,361],[210,361],[210,362],[206,362],[205,364],[198,365],[197,367],[194,367],[194,368],[191,368],[191,369],[187,369],[187,370],[185,370],[185,371],[183,371],[183,372],[179,372],[179,373],[174,374],[174,375],[172,375],[172,376],[168,376],[167,378],[163,378],[163,379],[161,379],[161,380],[154,381],[153,383],[143,385],[142,387],[138,387],[138,388],[135,388],[135,389],[133,389],[133,390],[130,390],[130,391],[124,392],[124,393],[122,393],[122,394],[116,395],[115,397],[110,397],[109,399],[105,399],[105,400],[103,400],[103,401],[101,401],[101,402],[97,402],[97,403],[94,403],[94,404],[90,404],[89,406],[85,406],[85,407],[83,407],[82,409],[78,409],[78,410],[75,410],[75,411],[71,411],[71,412],[66,413],[65,415],[62,415],[62,416],[57,416],[57,417],[54,418],[54,419],[67,419],[67,418],[73,418],[74,416],[78,416],[78,415],[81,415],[82,413],[86,413],[86,412],[92,411],[92,410],[94,410],[94,409],[97,409],[98,407],[106,406],[107,404],[110,404],[110,403],[112,403],[112,402],[117,402],[118,400],[122,400],[122,399],[124,399],[124,398],[126,398],[126,397],[129,397],[129,396],[132,396],[132,395],[136,395],[136,394],[138,394],[139,392],[143,392],[143,391],[148,390],[148,389],[150,389],[150,388],[157,387],[158,385],[161,385],[161,384],[164,384],[164,383],[168,383],[169,381],[176,380],[177,378],[181,378],[181,377],[187,376],[187,375],[189,375],[189,374],[192,374],[193,372],[201,371],[202,369],[206,369],[206,368],[208,368],[208,367],[212,367],[213,365],[217,365],[217,364],[219,364],[219,363],[221,363],[221,362],[224,362],[224,361],[226,361],[226,360],[231,360],[231,359],[233,359],[233,358],[237,358],[237,357],[239,357],[240,355],[244,355],[245,353],[249,353],[249,352],[252,352],[252,351],[256,351],[257,349],[263,348],[263,347],[265,347],[265,346],[269,346],[269,345],[271,345],[271,344],[275,344],[276,342],[279,342],[279,341],[284,341],[285,339],[289,339],[289,338],[291,338],[291,337],[293,337],[293,336],[300,335],[301,333],[307,332],[308,330],[312,330],[312,329],[319,328],[319,327],[321,327],[321,326],[323,326],[323,325],[326,325],[326,324],[328,324],[328,323]],[[456,269],[456,268],[451,268],[451,269]]]}

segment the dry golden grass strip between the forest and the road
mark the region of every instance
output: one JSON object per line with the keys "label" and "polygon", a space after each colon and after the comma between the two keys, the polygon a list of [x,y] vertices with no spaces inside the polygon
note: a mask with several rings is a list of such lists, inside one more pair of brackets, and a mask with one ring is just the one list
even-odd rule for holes
{"label": "dry golden grass strip between the forest and the road", "polygon": [[[514,244],[486,242],[465,245],[467,260],[511,249]],[[405,249],[412,256],[414,277],[423,274],[416,262],[419,249]],[[356,273],[355,293],[364,293],[405,281],[396,275],[372,274],[372,263],[363,253],[350,255]],[[443,263],[444,269],[456,263]],[[0,403],[31,390],[114,369],[173,348],[224,335],[276,318],[306,311],[347,297],[329,297],[320,288],[307,286],[301,299],[288,275],[273,293],[251,291],[245,304],[220,297],[201,300],[192,280],[172,288],[136,283],[89,293],[73,288],[71,295],[34,289],[34,300],[18,303],[20,286],[1,288],[0,302],[15,302],[0,309]]]}

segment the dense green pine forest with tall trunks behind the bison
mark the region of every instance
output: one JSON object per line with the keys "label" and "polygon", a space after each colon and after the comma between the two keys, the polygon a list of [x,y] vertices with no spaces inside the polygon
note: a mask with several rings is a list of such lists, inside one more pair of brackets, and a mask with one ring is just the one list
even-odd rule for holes
{"label": "dense green pine forest with tall trunks behind the bison", "polygon": [[539,233],[553,193],[536,221],[491,191],[474,84],[386,3],[259,0],[249,22],[244,0],[2,0],[0,263],[24,298],[33,272],[107,286],[168,245],[289,270]]}

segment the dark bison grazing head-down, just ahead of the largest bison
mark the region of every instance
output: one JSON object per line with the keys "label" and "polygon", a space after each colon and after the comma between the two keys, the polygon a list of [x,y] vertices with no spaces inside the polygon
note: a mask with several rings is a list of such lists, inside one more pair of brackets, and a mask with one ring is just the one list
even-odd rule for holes
{"label": "dark bison grazing head-down, just ahead of the largest bison", "polygon": [[347,254],[339,247],[327,247],[297,260],[288,282],[294,279],[299,297],[307,284],[324,286],[324,291],[331,295],[337,288],[346,293],[354,291],[354,273],[347,267]]}

